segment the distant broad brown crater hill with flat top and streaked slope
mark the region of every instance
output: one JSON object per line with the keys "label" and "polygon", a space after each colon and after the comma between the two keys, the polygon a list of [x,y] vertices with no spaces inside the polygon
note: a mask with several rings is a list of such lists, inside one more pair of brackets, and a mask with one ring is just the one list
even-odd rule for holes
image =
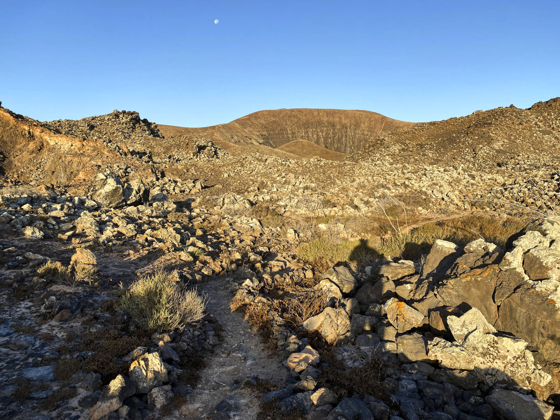
{"label": "distant broad brown crater hill with flat top and streaked slope", "polygon": [[227,124],[187,128],[158,124],[165,137],[187,134],[209,138],[217,146],[227,144],[264,144],[279,147],[305,138],[329,150],[352,153],[370,139],[401,128],[407,123],[371,111],[342,109],[277,109],[258,111]]}

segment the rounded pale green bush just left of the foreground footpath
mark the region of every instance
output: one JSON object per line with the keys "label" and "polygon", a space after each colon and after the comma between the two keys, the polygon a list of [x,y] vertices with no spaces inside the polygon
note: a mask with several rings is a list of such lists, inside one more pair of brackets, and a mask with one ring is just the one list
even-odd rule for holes
{"label": "rounded pale green bush just left of the foreground footpath", "polygon": [[196,290],[175,282],[174,273],[156,272],[130,285],[120,304],[148,330],[172,330],[199,321],[206,300]]}

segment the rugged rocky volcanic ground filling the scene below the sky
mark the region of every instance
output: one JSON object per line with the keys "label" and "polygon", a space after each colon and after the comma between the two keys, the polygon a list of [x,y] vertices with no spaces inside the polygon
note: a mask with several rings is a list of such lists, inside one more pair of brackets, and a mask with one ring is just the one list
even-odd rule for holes
{"label": "rugged rocky volcanic ground filling the scene below the sky", "polygon": [[[267,115],[226,150],[0,108],[0,417],[560,418],[560,100],[348,157]],[[150,279],[204,310],[142,321]]]}

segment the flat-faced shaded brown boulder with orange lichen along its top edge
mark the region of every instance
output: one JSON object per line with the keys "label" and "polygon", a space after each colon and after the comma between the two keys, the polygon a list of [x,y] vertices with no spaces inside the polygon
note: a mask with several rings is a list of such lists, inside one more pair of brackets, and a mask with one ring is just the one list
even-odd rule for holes
{"label": "flat-faced shaded brown boulder with orange lichen along its top edge", "polygon": [[498,265],[473,268],[457,277],[443,279],[436,286],[436,293],[447,306],[463,303],[476,307],[493,324],[498,319],[498,306],[492,300],[500,273]]}

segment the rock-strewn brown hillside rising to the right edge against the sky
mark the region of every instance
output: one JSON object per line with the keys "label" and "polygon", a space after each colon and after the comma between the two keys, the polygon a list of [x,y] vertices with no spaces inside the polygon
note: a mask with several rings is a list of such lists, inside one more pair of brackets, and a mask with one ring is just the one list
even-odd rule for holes
{"label": "rock-strewn brown hillside rising to the right edge against the sky", "polygon": [[431,165],[454,164],[465,157],[478,164],[505,164],[517,153],[560,155],[557,118],[560,99],[537,102],[531,108],[511,105],[418,124],[369,141],[353,161],[389,160]]}

